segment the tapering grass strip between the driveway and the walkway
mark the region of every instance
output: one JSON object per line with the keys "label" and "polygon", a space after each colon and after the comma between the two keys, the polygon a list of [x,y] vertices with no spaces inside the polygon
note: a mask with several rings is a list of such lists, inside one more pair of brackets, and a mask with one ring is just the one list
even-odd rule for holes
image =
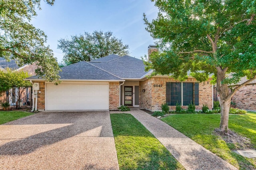
{"label": "tapering grass strip between the driveway and the walkway", "polygon": [[130,114],[111,114],[120,170],[184,169],[170,152]]}

